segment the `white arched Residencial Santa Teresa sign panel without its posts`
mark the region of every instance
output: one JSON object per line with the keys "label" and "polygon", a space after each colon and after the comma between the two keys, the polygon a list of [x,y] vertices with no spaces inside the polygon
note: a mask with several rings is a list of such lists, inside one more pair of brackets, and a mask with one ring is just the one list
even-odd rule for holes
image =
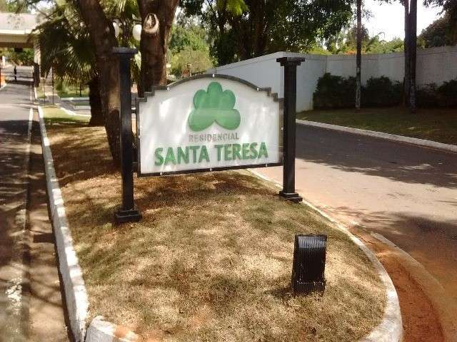
{"label": "white arched Residencial Santa Teresa sign panel without its posts", "polygon": [[269,89],[205,74],[136,102],[137,174],[282,165],[282,103]]}

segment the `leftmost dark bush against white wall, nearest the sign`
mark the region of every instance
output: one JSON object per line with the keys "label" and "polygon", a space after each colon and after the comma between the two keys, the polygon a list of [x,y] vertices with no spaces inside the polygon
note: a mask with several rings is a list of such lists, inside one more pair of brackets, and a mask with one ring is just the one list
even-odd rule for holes
{"label": "leftmost dark bush against white wall, nearest the sign", "polygon": [[350,108],[356,98],[356,78],[325,73],[313,93],[314,108]]}

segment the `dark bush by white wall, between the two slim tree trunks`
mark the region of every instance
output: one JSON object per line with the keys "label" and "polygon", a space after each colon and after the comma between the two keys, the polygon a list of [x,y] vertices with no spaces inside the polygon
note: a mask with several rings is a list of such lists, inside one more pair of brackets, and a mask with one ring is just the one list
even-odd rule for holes
{"label": "dark bush by white wall, between the two slim tree trunks", "polygon": [[403,100],[403,83],[394,81],[386,76],[370,78],[362,87],[363,107],[388,107],[399,105]]}

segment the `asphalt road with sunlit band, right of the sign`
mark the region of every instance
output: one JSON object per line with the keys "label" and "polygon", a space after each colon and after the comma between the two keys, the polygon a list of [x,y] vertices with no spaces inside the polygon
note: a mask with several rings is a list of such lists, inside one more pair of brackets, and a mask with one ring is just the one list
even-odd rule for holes
{"label": "asphalt road with sunlit band, right of the sign", "polygon": [[[282,181],[281,167],[258,171]],[[296,188],[391,240],[457,301],[457,154],[297,125]]]}

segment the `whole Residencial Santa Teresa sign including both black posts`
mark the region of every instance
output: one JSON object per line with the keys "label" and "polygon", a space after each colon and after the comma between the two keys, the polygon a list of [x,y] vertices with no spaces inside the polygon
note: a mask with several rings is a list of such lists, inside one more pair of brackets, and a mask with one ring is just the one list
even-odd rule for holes
{"label": "whole Residencial Santa Teresa sign including both black posts", "polygon": [[295,192],[296,68],[301,57],[281,57],[284,100],[269,89],[223,75],[186,78],[136,100],[137,162],[131,123],[131,58],[136,49],[116,47],[121,100],[122,204],[114,221],[138,222],[134,177],[283,165],[281,197]]}

